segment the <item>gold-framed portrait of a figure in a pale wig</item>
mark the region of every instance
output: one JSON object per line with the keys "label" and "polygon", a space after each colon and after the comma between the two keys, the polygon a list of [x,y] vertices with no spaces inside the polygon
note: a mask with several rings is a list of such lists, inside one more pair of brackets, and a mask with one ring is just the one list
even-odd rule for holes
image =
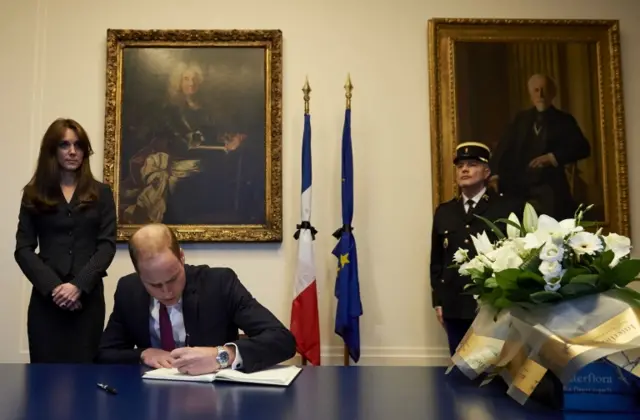
{"label": "gold-framed portrait of a figure in a pale wig", "polygon": [[106,96],[119,240],[282,240],[279,30],[108,30]]}

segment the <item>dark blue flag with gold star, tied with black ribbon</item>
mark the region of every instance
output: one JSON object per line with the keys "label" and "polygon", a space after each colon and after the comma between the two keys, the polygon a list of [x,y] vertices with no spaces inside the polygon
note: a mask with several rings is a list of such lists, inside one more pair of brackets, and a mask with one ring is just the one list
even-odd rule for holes
{"label": "dark blue flag with gold star, tied with black ribbon", "polygon": [[338,259],[335,296],[335,332],[344,341],[349,356],[356,363],[360,359],[360,282],[358,279],[358,253],[353,236],[353,153],[351,151],[351,109],[345,111],[342,131],[342,227],[333,236],[338,243],[333,255]]}

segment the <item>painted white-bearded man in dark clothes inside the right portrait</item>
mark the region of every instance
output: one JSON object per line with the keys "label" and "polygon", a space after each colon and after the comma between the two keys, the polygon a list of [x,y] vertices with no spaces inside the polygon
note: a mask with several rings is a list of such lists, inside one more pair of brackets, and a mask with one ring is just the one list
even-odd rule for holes
{"label": "painted white-bearded man in dark clothes inside the right portrait", "polygon": [[533,107],[508,126],[490,162],[491,184],[508,196],[528,201],[538,214],[571,218],[577,209],[567,180],[567,165],[591,154],[575,118],[552,105],[556,85],[541,74],[528,83]]}

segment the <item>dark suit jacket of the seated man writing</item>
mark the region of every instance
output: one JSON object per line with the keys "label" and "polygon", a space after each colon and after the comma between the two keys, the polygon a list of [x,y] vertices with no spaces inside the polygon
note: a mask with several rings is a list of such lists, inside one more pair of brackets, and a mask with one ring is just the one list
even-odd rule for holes
{"label": "dark suit jacket of the seated man writing", "polygon": [[[245,372],[268,368],[295,356],[293,334],[258,303],[233,270],[186,264],[185,270],[182,313],[190,346],[235,343]],[[118,281],[98,363],[140,363],[142,351],[151,346],[151,299],[138,274]],[[239,339],[238,329],[248,338]]]}

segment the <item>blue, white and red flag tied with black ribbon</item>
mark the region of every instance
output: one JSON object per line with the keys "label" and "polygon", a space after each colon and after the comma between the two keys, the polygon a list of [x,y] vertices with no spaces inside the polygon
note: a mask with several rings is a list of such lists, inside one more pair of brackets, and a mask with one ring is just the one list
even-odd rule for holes
{"label": "blue, white and red flag tied with black ribbon", "polygon": [[304,115],[302,136],[302,221],[294,238],[298,240],[298,263],[291,307],[291,332],[297,351],[313,365],[320,365],[320,323],[318,290],[313,240],[316,230],[311,225],[311,117]]}

